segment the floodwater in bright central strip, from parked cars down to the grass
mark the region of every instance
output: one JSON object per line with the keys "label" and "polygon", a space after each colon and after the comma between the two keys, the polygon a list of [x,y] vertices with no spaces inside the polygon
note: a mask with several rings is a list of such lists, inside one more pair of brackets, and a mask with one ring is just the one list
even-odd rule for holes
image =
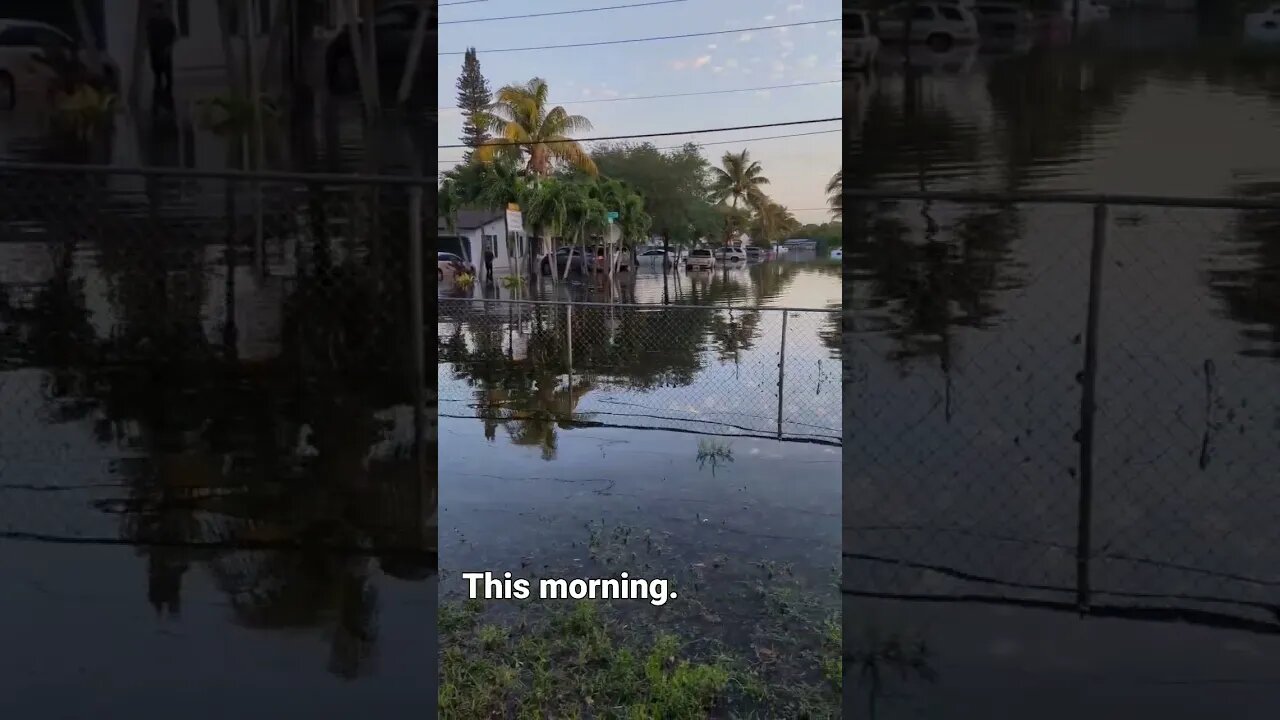
{"label": "floodwater in bright central strip, from parked cars down to the grass", "polygon": [[[838,611],[838,265],[608,283],[442,288],[442,600],[465,571],[662,578],[666,605],[611,609],[803,667],[820,639],[780,632],[769,598]],[[783,319],[800,306],[819,311]],[[799,673],[777,684],[820,682]]]}

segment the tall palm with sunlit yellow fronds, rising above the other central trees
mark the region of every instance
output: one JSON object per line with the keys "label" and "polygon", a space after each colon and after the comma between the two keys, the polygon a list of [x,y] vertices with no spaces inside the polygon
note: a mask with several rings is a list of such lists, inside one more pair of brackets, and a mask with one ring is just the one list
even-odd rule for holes
{"label": "tall palm with sunlit yellow fronds, rising above the other central trees", "polygon": [[591,122],[568,114],[559,105],[548,109],[548,92],[547,81],[536,77],[525,85],[499,90],[489,118],[490,131],[499,143],[480,146],[477,159],[488,163],[506,155],[525,160],[525,170],[535,176],[549,176],[557,163],[595,176],[598,170],[591,156],[570,137],[591,129]]}

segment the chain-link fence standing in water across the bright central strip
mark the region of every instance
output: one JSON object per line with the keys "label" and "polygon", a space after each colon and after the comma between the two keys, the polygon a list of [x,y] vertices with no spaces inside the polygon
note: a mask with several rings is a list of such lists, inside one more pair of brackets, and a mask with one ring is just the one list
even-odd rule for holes
{"label": "chain-link fence standing in water across the bright central strip", "polygon": [[438,302],[445,416],[840,443],[837,310]]}

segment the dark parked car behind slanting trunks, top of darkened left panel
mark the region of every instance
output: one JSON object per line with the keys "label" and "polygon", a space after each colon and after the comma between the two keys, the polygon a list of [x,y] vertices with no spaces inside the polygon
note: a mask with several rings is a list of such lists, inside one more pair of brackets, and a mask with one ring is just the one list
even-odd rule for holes
{"label": "dark parked car behind slanting trunks, top of darkened left panel", "polygon": [[[413,29],[417,27],[419,13],[435,13],[434,3],[390,3],[374,13],[374,44],[378,46],[378,86],[383,94],[394,92],[404,74],[410,47],[413,44]],[[428,33],[435,29],[434,18],[428,19]],[[356,28],[365,38],[365,24]],[[417,55],[417,83],[425,83],[429,50],[434,46],[430,37],[422,44]],[[367,50],[366,50],[367,51]],[[349,28],[342,29],[329,41],[325,49],[325,77],[329,91],[335,95],[349,95],[360,90],[360,76],[353,60]]]}

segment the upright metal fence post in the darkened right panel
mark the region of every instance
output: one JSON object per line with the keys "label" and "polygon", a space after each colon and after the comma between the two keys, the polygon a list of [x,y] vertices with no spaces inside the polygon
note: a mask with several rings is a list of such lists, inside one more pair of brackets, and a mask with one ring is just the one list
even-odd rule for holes
{"label": "upright metal fence post in the darkened right panel", "polygon": [[1080,614],[1089,610],[1089,553],[1093,516],[1093,418],[1098,379],[1098,316],[1102,296],[1102,258],[1107,242],[1107,206],[1093,206],[1093,237],[1089,249],[1089,307],[1084,324],[1084,373],[1080,377],[1080,505],[1076,514],[1075,602]]}

